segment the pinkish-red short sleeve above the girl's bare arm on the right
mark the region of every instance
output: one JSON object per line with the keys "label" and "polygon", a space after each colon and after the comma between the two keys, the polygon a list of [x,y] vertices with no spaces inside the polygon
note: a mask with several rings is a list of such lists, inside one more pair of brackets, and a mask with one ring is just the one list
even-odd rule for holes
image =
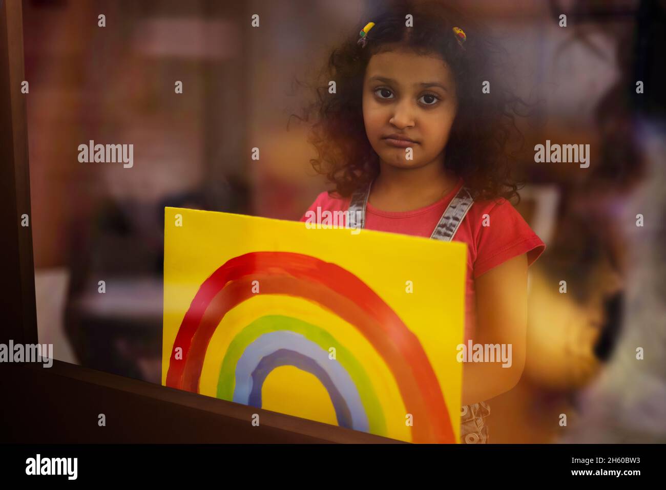
{"label": "pinkish-red short sleeve above the girl's bare arm on the right", "polygon": [[475,279],[522,254],[527,254],[527,266],[531,266],[545,250],[543,240],[529,228],[509,201],[502,199],[499,204],[494,204],[488,216],[490,224],[481,226],[478,234]]}

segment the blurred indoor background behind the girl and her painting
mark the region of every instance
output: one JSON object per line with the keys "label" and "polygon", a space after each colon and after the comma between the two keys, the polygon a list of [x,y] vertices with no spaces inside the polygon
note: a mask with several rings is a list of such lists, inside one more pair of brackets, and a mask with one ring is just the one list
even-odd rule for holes
{"label": "blurred indoor background behind the girl and her painting", "polygon": [[[326,182],[307,127],[287,126],[296,80],[380,3],[23,1],[37,320],[55,358],[160,383],[164,207],[298,220]],[[535,107],[516,207],[547,244],[525,373],[490,401],[490,442],[666,442],[666,2],[453,3],[501,40]],[[589,168],[535,163],[546,139],[590,144]],[[89,140],[134,144],[133,168],[79,163]]]}

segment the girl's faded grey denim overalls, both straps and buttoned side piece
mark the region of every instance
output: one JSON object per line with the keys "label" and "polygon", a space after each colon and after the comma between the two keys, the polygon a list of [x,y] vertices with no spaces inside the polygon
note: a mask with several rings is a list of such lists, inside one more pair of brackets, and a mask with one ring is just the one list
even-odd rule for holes
{"label": "girl's faded grey denim overalls, both straps and buttoned side piece", "polygon": [[[350,228],[364,228],[366,224],[366,204],[370,196],[372,182],[356,190],[349,203]],[[449,203],[430,238],[450,242],[453,240],[462,220],[474,204],[472,194],[465,186]],[[490,415],[490,407],[485,401],[463,405],[460,409],[460,442],[464,444],[488,443],[488,427],[484,418]]]}

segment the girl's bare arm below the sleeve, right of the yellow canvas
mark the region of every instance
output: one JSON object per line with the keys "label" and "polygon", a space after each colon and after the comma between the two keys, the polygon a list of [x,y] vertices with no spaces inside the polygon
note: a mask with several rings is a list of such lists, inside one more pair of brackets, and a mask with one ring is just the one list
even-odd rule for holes
{"label": "girl's bare arm below the sleeve, right of the yellow canvas", "polygon": [[[502,362],[463,364],[462,404],[486,401],[514,387],[525,367],[527,336],[527,255],[482,274],[476,286],[473,344],[511,344],[511,367]],[[508,352],[508,351],[506,351]],[[471,354],[471,353],[470,353]]]}

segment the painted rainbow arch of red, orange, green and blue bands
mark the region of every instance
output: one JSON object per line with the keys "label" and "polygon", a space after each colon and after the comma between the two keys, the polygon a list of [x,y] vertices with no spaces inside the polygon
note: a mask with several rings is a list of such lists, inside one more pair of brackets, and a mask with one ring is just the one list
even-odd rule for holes
{"label": "painted rainbow arch of red, orange, green and blue bands", "polygon": [[[250,252],[228,260],[198,288],[178,328],[166,373],[166,385],[200,393],[204,358],[223,318],[256,296],[292,296],[332,312],[358,331],[390,370],[407,413],[415,421],[411,441],[456,441],[436,373],[418,338],[396,312],[348,270],[293,252]],[[262,407],[262,386],[276,368],[294,366],[324,386],[340,427],[387,435],[389,399],[374,379],[336,338],[336,332],[284,314],[266,314],[241,326],[224,352],[217,397]],[[329,348],[338,356],[330,360]],[[182,349],[182,356],[176,350]],[[177,357],[177,358],[176,358]]]}

